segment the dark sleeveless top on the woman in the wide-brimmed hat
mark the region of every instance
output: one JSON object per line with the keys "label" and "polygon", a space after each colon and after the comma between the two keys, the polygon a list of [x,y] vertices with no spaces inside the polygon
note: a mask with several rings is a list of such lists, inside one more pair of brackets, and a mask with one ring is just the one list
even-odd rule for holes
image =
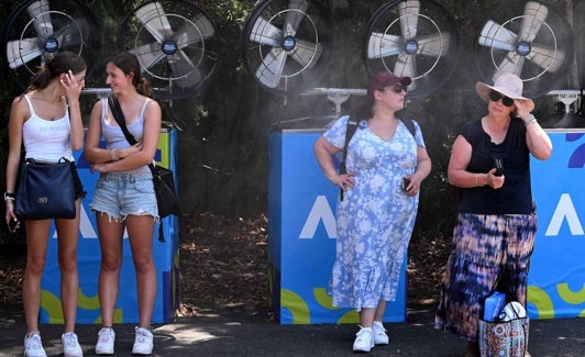
{"label": "dark sleeveless top on the woman in the wide-brimmed hat", "polygon": [[463,126],[461,135],[472,145],[467,171],[485,174],[495,167],[495,158],[504,163],[504,186],[462,188],[460,213],[474,214],[530,214],[533,212],[530,187],[530,150],[526,144],[526,127],[512,118],[506,138],[494,144],[484,132],[482,121]]}

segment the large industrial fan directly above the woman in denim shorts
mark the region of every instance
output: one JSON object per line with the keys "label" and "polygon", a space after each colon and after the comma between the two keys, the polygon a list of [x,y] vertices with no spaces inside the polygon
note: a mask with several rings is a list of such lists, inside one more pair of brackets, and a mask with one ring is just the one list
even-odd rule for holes
{"label": "large industrial fan directly above the woman in denim shorts", "polygon": [[183,0],[141,4],[122,22],[117,47],[137,56],[158,99],[201,90],[220,60],[214,24],[196,3]]}

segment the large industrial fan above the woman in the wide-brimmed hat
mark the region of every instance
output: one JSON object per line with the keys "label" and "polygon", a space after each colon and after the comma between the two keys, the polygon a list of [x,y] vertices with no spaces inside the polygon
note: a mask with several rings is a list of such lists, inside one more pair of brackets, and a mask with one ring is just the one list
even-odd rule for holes
{"label": "large industrial fan above the woman in the wide-brimmed hat", "polygon": [[528,97],[559,88],[572,60],[573,30],[558,10],[538,1],[506,1],[488,16],[475,48],[482,80],[516,74]]}

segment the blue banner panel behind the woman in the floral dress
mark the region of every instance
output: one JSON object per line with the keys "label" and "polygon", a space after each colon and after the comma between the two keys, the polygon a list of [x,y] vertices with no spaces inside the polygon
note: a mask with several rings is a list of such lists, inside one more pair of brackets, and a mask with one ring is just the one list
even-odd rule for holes
{"label": "blue banner panel behind the woman in the floral dress", "polygon": [[[327,287],[335,259],[339,189],[323,176],[312,146],[320,132],[269,134],[268,282],[282,324],[357,323],[353,309],[332,306]],[[406,264],[384,321],[406,319]]]}

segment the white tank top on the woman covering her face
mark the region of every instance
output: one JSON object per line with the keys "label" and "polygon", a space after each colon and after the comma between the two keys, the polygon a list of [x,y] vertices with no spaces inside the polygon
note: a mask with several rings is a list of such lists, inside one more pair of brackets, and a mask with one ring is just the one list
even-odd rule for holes
{"label": "white tank top on the woman covering her face", "polygon": [[45,120],[36,114],[26,94],[24,99],[31,113],[22,126],[25,157],[45,163],[57,163],[59,158],[65,157],[73,161],[69,111],[66,110],[60,119]]}

